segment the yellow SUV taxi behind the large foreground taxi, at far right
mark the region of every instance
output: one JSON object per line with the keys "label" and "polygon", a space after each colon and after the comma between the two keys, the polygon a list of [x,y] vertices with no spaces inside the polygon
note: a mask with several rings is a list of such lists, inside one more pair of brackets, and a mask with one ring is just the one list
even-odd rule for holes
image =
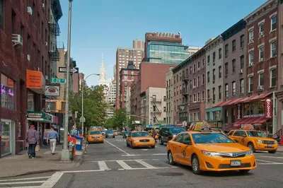
{"label": "yellow SUV taxi behind the large foreground taxi, at far right", "polygon": [[251,151],[268,151],[268,153],[276,153],[278,143],[275,139],[270,139],[261,131],[256,130],[232,130],[229,137],[234,141],[248,146]]}

